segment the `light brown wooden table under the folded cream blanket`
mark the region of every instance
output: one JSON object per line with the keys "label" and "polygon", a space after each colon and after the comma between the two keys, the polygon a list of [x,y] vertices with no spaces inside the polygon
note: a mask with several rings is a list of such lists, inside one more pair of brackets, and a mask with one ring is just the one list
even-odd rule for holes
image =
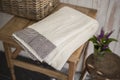
{"label": "light brown wooden table under the folded cream blanket", "polygon": [[[60,5],[56,7],[55,11],[60,9],[63,6],[70,6],[93,18],[95,18],[96,16],[96,10],[74,6],[74,5],[69,5],[69,4],[64,4],[64,3],[60,3]],[[12,80],[16,80],[15,74],[14,74],[14,66],[40,72],[45,75],[55,77],[61,80],[73,80],[77,63],[80,59],[81,54],[83,53],[83,51],[85,51],[86,44],[78,48],[68,59],[67,61],[67,63],[69,64],[68,74],[63,74],[60,71],[50,70],[50,69],[46,69],[40,66],[36,66],[36,65],[32,65],[32,64],[29,64],[23,61],[16,60],[16,57],[18,56],[22,48],[12,39],[11,35],[13,32],[24,29],[25,27],[35,22],[36,21],[32,21],[32,20],[28,20],[25,18],[15,16],[3,28],[0,29],[0,40],[3,41],[6,59],[7,59],[8,67],[10,68],[10,71],[11,71]],[[13,47],[15,48],[15,51],[11,51],[11,48]],[[84,57],[85,57],[85,53],[84,53]]]}

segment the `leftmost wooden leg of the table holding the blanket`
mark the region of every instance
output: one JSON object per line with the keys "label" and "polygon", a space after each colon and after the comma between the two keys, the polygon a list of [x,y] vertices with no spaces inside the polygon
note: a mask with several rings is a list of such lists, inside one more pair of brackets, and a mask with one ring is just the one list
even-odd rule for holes
{"label": "leftmost wooden leg of the table holding the blanket", "polygon": [[11,55],[12,55],[11,48],[9,47],[9,44],[7,44],[5,42],[3,42],[3,45],[4,45],[4,49],[5,49],[7,64],[10,69],[10,72],[11,72],[12,80],[16,80],[15,74],[14,74],[14,65],[12,63],[12,58],[11,58]]}

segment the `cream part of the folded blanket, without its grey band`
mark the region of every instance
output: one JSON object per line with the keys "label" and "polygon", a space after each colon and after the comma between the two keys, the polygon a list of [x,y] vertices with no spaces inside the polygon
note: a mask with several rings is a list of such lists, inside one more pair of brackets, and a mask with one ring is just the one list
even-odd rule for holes
{"label": "cream part of the folded blanket, without its grey band", "polygon": [[45,61],[55,69],[61,70],[72,53],[95,34],[98,26],[95,19],[70,7],[63,7],[47,18],[28,26],[56,46],[42,60],[29,44],[15,34],[13,36],[38,60]]}

